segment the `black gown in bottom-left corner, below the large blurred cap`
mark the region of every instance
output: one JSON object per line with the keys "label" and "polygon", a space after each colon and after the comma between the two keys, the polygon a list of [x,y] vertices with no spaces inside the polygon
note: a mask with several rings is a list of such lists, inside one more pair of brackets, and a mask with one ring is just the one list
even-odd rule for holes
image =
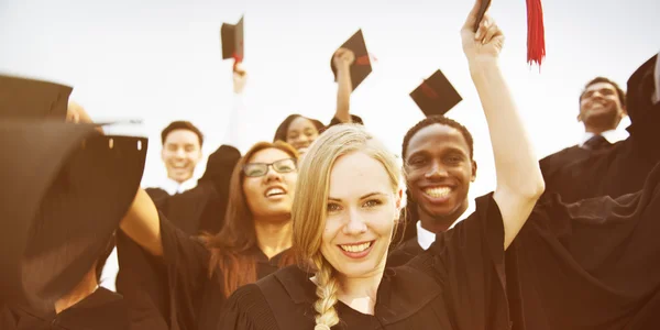
{"label": "black gown in bottom-left corner, below the large blurred cap", "polygon": [[56,315],[23,308],[2,308],[3,330],[124,330],[129,329],[125,301],[116,293],[99,287],[94,294]]}

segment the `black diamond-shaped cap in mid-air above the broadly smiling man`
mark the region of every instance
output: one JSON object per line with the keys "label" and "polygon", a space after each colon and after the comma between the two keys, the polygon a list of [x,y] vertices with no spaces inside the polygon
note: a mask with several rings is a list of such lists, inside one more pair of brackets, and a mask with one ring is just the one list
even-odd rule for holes
{"label": "black diamond-shaped cap in mid-air above the broadly smiling man", "polygon": [[444,114],[463,100],[441,70],[424,80],[410,97],[426,117]]}

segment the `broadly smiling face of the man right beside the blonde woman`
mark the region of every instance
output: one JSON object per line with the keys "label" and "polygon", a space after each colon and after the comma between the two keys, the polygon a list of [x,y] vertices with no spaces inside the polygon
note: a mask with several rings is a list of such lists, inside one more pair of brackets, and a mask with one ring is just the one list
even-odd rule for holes
{"label": "broadly smiling face of the man right beside the blonde woman", "polygon": [[405,162],[407,186],[422,220],[455,220],[468,209],[476,163],[459,130],[440,123],[419,130],[408,143]]}

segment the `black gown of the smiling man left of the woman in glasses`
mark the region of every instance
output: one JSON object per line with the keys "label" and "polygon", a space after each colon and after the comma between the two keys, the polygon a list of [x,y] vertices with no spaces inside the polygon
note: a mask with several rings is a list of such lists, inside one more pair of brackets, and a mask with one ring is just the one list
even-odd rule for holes
{"label": "black gown of the smiling man left of the woman in glasses", "polygon": [[[189,235],[201,231],[220,231],[229,200],[229,182],[241,154],[222,145],[209,155],[207,168],[197,187],[167,195],[162,189],[147,189],[158,210],[175,227]],[[117,234],[119,273],[117,290],[130,304],[133,329],[168,329],[169,290],[163,263],[143,251],[123,232]]]}

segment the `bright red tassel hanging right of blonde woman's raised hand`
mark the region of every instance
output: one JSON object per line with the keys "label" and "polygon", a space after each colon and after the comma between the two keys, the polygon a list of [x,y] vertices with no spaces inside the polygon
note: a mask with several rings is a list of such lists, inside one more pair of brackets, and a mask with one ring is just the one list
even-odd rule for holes
{"label": "bright red tassel hanging right of blonde woman's raised hand", "polygon": [[546,31],[540,0],[527,0],[527,63],[541,66],[546,57]]}

